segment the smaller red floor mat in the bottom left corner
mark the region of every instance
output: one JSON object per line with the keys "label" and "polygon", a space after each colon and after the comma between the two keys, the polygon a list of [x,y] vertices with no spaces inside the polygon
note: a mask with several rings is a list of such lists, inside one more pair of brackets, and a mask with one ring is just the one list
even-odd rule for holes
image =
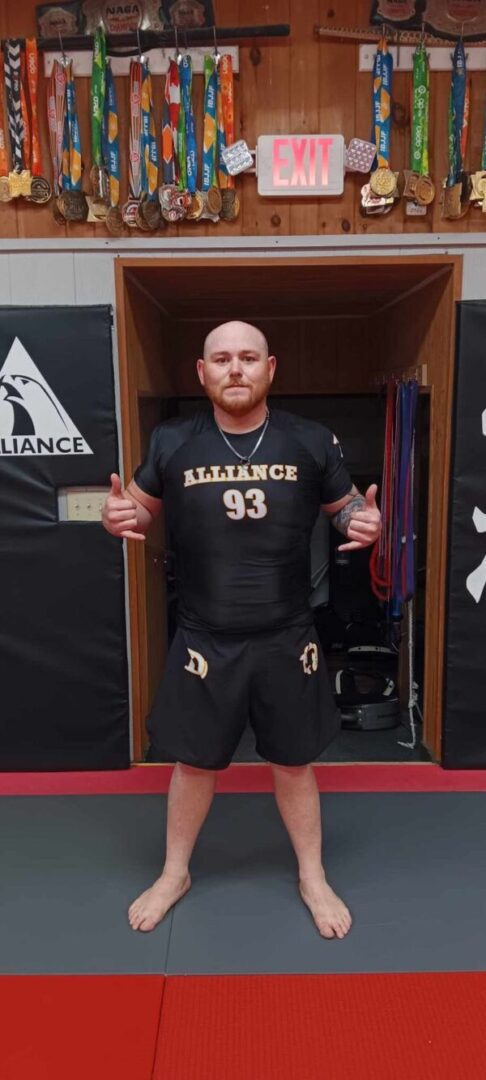
{"label": "smaller red floor mat in the bottom left corner", "polygon": [[1,1080],[150,1080],[163,975],[0,976]]}

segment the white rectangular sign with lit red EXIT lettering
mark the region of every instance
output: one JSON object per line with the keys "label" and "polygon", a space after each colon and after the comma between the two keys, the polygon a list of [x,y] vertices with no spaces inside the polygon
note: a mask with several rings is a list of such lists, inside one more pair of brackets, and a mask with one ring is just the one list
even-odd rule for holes
{"label": "white rectangular sign with lit red EXIT lettering", "polygon": [[259,195],[340,195],[345,187],[342,135],[260,135]]}

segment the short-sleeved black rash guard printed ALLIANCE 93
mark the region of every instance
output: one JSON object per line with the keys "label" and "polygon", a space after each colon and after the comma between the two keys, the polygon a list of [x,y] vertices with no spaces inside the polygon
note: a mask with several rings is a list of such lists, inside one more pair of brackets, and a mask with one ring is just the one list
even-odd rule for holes
{"label": "short-sleeved black rash guard printed ALLIANCE 93", "polygon": [[[261,431],[226,434],[248,454]],[[242,465],[212,413],[167,420],[134,480],[164,502],[181,626],[245,634],[309,624],[312,527],[321,504],[352,487],[327,428],[272,408]]]}

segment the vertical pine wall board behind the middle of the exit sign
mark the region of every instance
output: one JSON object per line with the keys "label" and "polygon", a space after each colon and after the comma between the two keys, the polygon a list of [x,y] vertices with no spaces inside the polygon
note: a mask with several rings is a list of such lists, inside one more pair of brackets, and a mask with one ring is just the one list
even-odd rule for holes
{"label": "vertical pine wall board behind the middle of the exit sign", "polygon": [[[296,134],[318,134],[319,126],[319,54],[312,26],[319,23],[319,0],[292,4],[292,38],[288,64],[289,131]],[[319,203],[315,199],[293,199],[289,210],[289,232],[294,237],[319,232]]]}

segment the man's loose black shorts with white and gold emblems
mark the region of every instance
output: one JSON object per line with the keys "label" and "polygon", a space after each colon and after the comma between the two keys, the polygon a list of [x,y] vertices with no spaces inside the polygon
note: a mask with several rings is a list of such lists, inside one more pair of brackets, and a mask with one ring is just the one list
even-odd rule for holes
{"label": "man's loose black shorts with white and gold emblems", "polygon": [[337,734],[315,627],[245,637],[179,627],[148,718],[149,760],[226,769],[248,720],[275,765],[307,765]]}

